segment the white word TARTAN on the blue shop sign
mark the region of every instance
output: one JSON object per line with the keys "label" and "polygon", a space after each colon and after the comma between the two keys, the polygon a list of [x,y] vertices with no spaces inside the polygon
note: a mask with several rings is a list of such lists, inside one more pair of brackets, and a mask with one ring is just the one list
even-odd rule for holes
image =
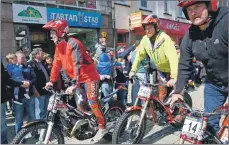
{"label": "white word TARTAN on the blue shop sign", "polygon": [[64,14],[64,13],[51,13],[51,19],[78,21],[77,15]]}

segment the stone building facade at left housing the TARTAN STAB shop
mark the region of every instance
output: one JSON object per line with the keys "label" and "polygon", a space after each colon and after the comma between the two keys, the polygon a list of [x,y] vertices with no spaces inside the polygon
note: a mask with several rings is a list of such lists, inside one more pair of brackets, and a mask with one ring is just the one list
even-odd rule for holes
{"label": "stone building facade at left housing the TARTAN STAB shop", "polygon": [[42,29],[52,19],[67,20],[69,36],[80,39],[86,49],[98,42],[101,32],[107,33],[108,45],[113,45],[111,3],[109,6],[106,1],[3,1],[1,4],[2,58],[17,50],[28,55],[36,47],[54,54],[50,33]]}

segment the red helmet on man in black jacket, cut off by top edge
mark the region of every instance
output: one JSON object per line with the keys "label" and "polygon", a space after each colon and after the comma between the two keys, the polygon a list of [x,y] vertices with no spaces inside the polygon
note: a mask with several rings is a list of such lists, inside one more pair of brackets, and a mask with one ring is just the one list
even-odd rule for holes
{"label": "red helmet on man in black jacket, cut off by top edge", "polygon": [[218,9],[218,0],[178,0],[177,6],[180,6],[183,9],[186,19],[189,20],[186,8],[200,2],[205,2],[207,4],[208,12],[210,13],[216,12]]}

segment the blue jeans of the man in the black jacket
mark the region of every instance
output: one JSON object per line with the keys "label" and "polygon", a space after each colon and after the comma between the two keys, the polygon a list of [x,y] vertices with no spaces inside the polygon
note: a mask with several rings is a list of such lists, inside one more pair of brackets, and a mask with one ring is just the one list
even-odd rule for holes
{"label": "blue jeans of the man in the black jacket", "polygon": [[[211,83],[206,83],[204,88],[204,111],[212,112],[214,109],[222,106],[227,99],[228,93],[223,91],[223,87],[215,86]],[[220,115],[212,116],[208,119],[208,123],[219,131]]]}

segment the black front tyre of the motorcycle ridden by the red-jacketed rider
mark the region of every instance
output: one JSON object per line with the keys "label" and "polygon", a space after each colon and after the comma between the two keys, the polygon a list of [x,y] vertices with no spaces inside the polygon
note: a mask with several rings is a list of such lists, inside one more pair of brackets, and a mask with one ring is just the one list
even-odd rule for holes
{"label": "black front tyre of the motorcycle ridden by the red-jacketed rider", "polygon": [[[47,129],[47,128],[48,128],[48,124],[46,123],[37,123],[31,126],[22,128],[19,131],[19,133],[14,137],[11,144],[20,144],[21,140],[25,137],[25,135],[31,131],[38,130],[38,129]],[[53,127],[52,134],[56,135],[58,144],[64,144],[64,136],[58,128]]]}

